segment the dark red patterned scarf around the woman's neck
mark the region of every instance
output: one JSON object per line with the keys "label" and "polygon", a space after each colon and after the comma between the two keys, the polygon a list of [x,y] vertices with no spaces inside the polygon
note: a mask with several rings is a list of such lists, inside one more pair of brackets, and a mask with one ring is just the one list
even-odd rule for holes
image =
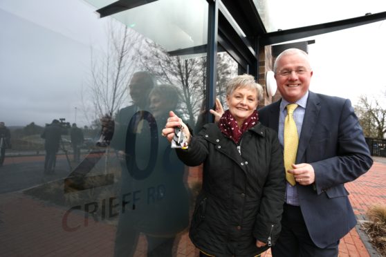
{"label": "dark red patterned scarf around the woman's neck", "polygon": [[230,114],[230,111],[227,110],[220,118],[219,128],[223,134],[238,144],[241,139],[241,135],[243,135],[243,133],[246,132],[248,128],[255,126],[258,120],[259,116],[255,110],[248,118],[246,118],[246,120],[244,120],[241,128],[239,128],[235,117],[233,117],[232,114]]}

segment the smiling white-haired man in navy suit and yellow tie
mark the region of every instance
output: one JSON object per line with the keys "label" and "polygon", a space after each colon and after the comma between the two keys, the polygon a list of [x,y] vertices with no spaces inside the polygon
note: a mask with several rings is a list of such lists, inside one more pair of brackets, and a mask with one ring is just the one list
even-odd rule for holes
{"label": "smiling white-haired man in navy suit and yellow tie", "polygon": [[261,108],[260,121],[278,131],[286,158],[286,148],[293,146],[284,143],[286,106],[297,104],[293,120],[300,137],[296,160],[286,167],[295,181],[286,185],[282,233],[273,256],[337,256],[340,238],[356,225],[344,183],[372,164],[365,137],[349,99],[309,91],[313,70],[302,50],[285,50],[274,72],[282,99]]}

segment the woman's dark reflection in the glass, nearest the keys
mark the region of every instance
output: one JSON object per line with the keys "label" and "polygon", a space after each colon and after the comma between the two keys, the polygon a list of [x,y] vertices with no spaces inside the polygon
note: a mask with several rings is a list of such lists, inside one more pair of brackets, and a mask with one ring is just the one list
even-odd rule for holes
{"label": "woman's dark reflection in the glass, nearest the keys", "polygon": [[[175,110],[177,104],[176,87],[155,86],[149,93],[150,113],[144,115],[147,120],[140,120],[135,141],[127,143],[134,151],[128,151],[123,165],[121,195],[131,196],[127,198],[127,208],[131,209],[120,213],[116,256],[132,256],[140,233],[147,239],[147,256],[172,256],[176,235],[187,228],[189,198],[183,181],[184,165],[170,144],[158,139],[168,111]],[[134,206],[135,192],[138,200]]]}

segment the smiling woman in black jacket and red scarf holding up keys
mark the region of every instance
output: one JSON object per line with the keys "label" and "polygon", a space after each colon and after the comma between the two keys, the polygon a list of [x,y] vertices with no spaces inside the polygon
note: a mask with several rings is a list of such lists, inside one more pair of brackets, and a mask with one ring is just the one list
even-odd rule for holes
{"label": "smiling woman in black jacket and red scarf holding up keys", "polygon": [[256,256],[275,242],[284,203],[285,177],[277,133],[258,122],[262,88],[250,75],[228,83],[226,111],[192,137],[170,112],[163,135],[181,126],[188,142],[177,155],[186,165],[203,163],[203,188],[190,227],[201,256]]}

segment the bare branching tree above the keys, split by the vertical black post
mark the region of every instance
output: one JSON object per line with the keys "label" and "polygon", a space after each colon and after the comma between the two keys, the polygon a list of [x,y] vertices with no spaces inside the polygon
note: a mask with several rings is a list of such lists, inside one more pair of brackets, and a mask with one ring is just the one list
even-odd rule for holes
{"label": "bare branching tree above the keys, split by the vertical black post", "polygon": [[[147,42],[147,47],[141,53],[141,65],[145,70],[156,75],[161,82],[173,84],[181,88],[183,98],[183,113],[189,124],[196,122],[205,98],[206,87],[206,57],[191,57],[185,59],[168,55],[157,44]],[[223,102],[225,85],[228,80],[237,75],[237,64],[229,55],[220,53],[217,57],[217,94]]]}

